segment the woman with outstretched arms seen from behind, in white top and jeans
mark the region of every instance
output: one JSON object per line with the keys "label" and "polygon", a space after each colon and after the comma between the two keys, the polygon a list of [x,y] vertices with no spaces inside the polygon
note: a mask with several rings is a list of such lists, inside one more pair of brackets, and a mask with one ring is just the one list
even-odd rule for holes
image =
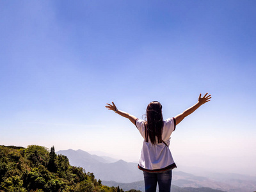
{"label": "woman with outstretched arms seen from behind, in white top and jeans", "polygon": [[172,169],[176,168],[176,164],[169,149],[170,136],[175,131],[176,125],[210,99],[211,95],[208,93],[204,97],[201,97],[200,93],[198,102],[194,106],[166,120],[163,120],[161,104],[157,101],[150,102],[147,106],[147,121],[120,111],[114,102],[107,104],[107,109],[128,118],[136,125],[144,138],[138,168],[143,171],[146,192],[156,191],[157,182],[159,192],[171,191]]}

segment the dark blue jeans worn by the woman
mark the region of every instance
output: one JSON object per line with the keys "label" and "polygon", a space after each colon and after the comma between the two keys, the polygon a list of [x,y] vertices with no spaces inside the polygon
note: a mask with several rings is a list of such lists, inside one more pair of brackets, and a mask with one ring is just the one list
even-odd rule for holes
{"label": "dark blue jeans worn by the woman", "polygon": [[172,170],[163,173],[143,172],[146,192],[156,192],[158,182],[159,192],[170,192],[172,182]]}

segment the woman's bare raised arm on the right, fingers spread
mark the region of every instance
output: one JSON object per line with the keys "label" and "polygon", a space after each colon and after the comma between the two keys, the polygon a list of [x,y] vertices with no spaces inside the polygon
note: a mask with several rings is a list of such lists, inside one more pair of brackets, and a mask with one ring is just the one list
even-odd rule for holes
{"label": "woman's bare raised arm on the right, fingers spread", "polygon": [[204,97],[201,97],[201,93],[200,93],[198,102],[194,106],[186,109],[183,113],[180,113],[179,115],[175,116],[176,125],[178,125],[186,116],[190,115],[200,106],[202,106],[202,104],[205,104],[205,102],[209,102],[212,97],[211,95],[207,95],[207,94],[208,93],[206,93]]}

